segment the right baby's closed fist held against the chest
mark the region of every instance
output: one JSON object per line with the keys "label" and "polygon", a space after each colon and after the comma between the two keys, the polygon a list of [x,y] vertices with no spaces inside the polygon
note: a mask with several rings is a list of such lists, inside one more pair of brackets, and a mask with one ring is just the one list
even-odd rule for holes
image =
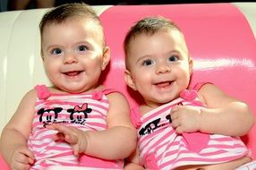
{"label": "right baby's closed fist held against the chest", "polygon": [[200,130],[201,109],[196,106],[174,106],[171,110],[175,132],[197,132]]}

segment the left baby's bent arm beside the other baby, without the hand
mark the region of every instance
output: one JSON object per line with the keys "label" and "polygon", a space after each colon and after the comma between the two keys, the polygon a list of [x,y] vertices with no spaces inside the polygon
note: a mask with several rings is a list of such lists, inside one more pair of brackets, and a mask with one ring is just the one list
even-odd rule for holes
{"label": "left baby's bent arm beside the other baby, without the hand", "polygon": [[102,132],[89,132],[87,154],[102,158],[117,159],[128,157],[136,147],[136,130],[130,119],[127,100],[120,93],[107,95],[109,112],[108,129]]}

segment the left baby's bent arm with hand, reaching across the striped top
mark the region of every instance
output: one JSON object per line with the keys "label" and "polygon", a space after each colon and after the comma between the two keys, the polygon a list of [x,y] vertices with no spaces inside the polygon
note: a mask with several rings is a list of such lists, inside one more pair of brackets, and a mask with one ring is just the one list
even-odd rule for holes
{"label": "left baby's bent arm with hand, reaching across the striped top", "polygon": [[108,99],[110,107],[107,113],[108,128],[105,131],[83,132],[61,124],[47,127],[57,130],[57,139],[69,142],[75,155],[84,152],[104,159],[128,157],[136,145],[136,131],[130,120],[128,103],[119,93],[108,95]]}

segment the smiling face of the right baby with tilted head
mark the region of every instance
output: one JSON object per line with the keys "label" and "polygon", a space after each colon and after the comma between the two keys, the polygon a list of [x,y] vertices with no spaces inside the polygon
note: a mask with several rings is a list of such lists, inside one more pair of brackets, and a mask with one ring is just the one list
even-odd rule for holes
{"label": "smiling face of the right baby with tilted head", "polygon": [[130,86],[149,106],[167,103],[188,87],[192,60],[178,30],[141,34],[132,39],[129,47]]}

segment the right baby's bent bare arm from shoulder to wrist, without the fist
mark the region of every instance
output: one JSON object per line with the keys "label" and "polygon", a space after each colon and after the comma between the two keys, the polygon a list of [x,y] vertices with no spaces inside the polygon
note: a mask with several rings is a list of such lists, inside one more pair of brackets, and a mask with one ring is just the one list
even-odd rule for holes
{"label": "right baby's bent bare arm from shoulder to wrist, without the fist", "polygon": [[199,90],[207,108],[201,108],[201,132],[243,136],[250,131],[254,118],[249,106],[232,98],[212,84]]}

